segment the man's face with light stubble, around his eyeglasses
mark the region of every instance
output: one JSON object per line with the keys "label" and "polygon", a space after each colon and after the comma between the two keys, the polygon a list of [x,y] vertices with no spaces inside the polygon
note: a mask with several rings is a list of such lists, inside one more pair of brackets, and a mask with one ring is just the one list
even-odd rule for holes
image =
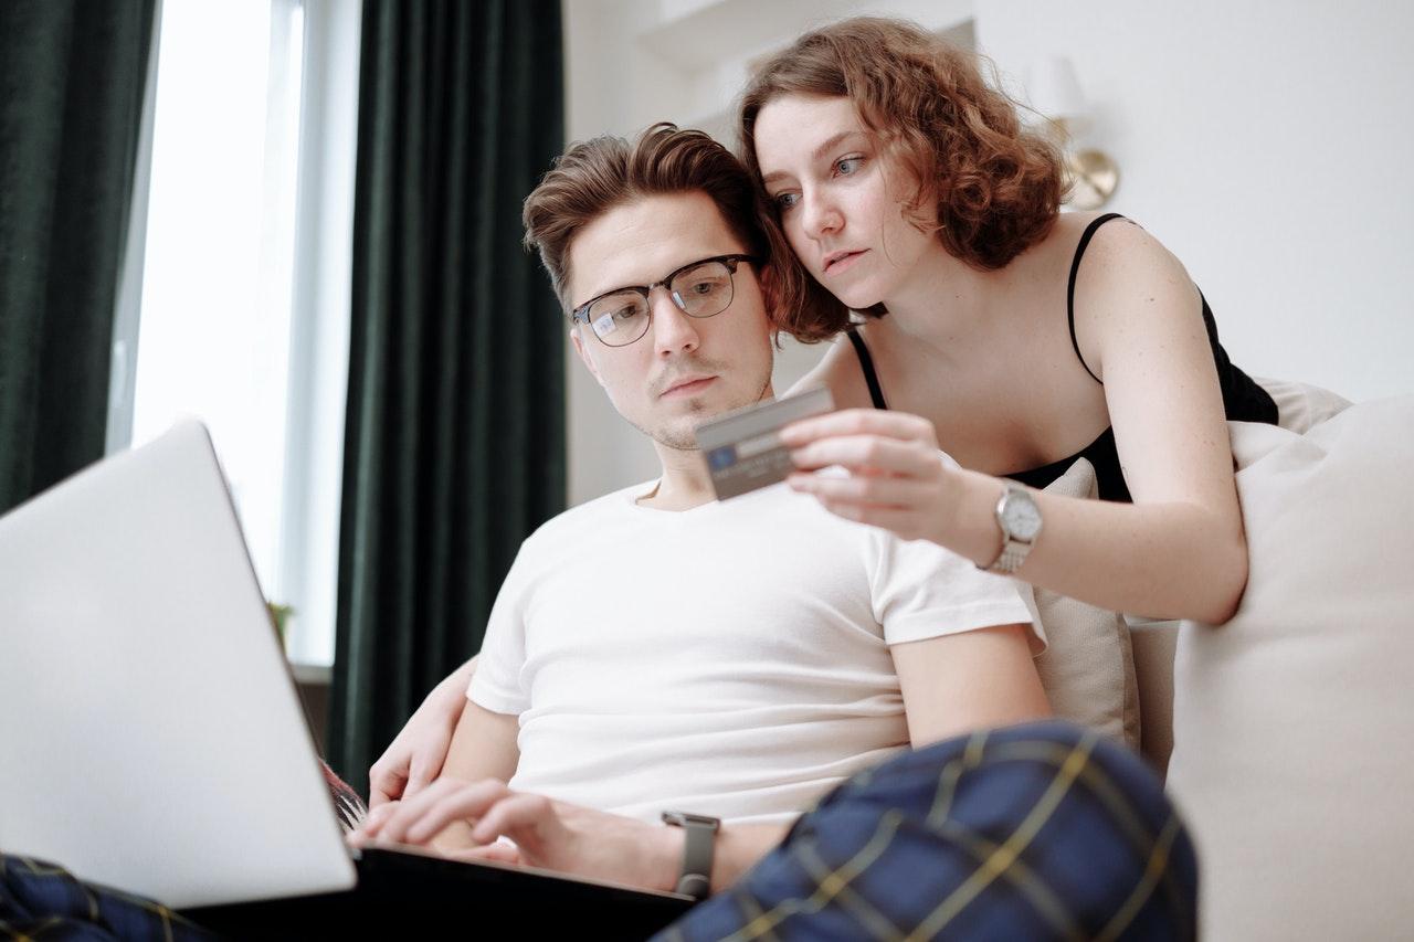
{"label": "man's face with light stubble, around his eyeglasses", "polygon": [[[744,252],[706,194],[645,197],[574,238],[570,304]],[[696,450],[693,430],[704,420],[771,395],[772,331],[755,266],[742,262],[731,280],[731,304],[704,318],[689,317],[666,287],[655,287],[648,334],[626,347],[607,347],[583,324],[571,331],[574,349],[619,414],[669,448]]]}

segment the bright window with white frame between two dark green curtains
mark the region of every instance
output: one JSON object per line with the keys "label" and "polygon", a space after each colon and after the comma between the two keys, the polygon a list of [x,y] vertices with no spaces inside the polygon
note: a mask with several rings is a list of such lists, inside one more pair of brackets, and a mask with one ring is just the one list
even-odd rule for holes
{"label": "bright window with white frame between two dark green curtains", "polygon": [[182,416],[206,423],[262,590],[294,608],[290,655],[321,665],[334,656],[356,7],[164,0],[140,314],[126,331],[119,317],[115,341],[115,373],[133,349],[136,371],[113,424],[141,444]]}

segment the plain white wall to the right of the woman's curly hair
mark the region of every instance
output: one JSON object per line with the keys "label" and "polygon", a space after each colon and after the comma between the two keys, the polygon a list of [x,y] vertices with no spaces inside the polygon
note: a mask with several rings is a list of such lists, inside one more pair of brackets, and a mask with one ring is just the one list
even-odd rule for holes
{"label": "plain white wall to the right of the woman's curly hair", "polygon": [[977,0],[1015,78],[1075,62],[1140,221],[1243,369],[1350,399],[1414,392],[1414,6]]}

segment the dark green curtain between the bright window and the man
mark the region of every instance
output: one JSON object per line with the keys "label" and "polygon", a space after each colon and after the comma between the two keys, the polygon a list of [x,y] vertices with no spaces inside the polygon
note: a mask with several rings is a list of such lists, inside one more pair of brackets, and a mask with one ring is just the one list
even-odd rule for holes
{"label": "dark green curtain between the bright window and the man", "polygon": [[560,0],[366,0],[329,762],[359,791],[564,505],[564,324],[520,248]]}

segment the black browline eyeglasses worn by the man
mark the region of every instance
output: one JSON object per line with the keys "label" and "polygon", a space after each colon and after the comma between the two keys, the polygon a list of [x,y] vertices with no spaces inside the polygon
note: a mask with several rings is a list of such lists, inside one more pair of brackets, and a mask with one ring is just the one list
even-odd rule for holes
{"label": "black browline eyeglasses worn by the man", "polygon": [[653,321],[649,294],[659,284],[687,317],[711,317],[731,306],[732,276],[741,262],[756,263],[749,255],[718,255],[689,262],[662,281],[621,287],[574,308],[570,320],[587,325],[605,347],[628,347],[648,334]]}

